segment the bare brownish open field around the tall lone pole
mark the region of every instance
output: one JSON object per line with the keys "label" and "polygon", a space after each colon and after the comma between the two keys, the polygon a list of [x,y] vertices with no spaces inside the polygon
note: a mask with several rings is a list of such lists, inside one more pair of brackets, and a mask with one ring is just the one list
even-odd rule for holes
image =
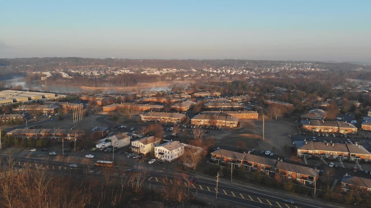
{"label": "bare brownish open field around the tall lone pole", "polygon": [[[297,134],[297,123],[291,121],[265,120],[265,141],[263,142],[263,120],[240,120],[242,127],[230,129],[216,136],[216,142],[232,146],[246,145],[246,149],[270,150],[278,155],[290,157],[292,143],[285,133]],[[224,129],[225,130],[225,129]],[[242,142],[241,142],[242,141]],[[243,144],[244,143],[244,144]],[[287,144],[287,148],[285,148]]]}

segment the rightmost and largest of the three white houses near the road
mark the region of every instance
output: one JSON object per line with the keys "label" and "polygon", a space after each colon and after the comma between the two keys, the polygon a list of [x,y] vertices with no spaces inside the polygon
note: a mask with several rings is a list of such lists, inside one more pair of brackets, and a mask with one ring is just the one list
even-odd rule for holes
{"label": "rightmost and largest of the three white houses near the road", "polygon": [[170,141],[155,147],[155,158],[173,161],[184,154],[184,144],[179,141]]}

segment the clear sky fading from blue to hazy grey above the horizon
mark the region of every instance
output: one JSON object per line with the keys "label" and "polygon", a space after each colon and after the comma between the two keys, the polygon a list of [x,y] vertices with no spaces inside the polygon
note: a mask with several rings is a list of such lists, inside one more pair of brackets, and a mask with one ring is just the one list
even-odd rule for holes
{"label": "clear sky fading from blue to hazy grey above the horizon", "polygon": [[370,0],[0,1],[0,58],[371,60]]}

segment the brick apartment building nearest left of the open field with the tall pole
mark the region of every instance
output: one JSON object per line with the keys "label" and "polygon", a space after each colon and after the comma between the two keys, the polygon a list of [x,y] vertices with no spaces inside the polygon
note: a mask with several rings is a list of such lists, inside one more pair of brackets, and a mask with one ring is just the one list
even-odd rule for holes
{"label": "brick apartment building nearest left of the open field with the tall pole", "polygon": [[200,114],[191,119],[192,125],[207,125],[219,127],[237,127],[239,118],[230,115]]}

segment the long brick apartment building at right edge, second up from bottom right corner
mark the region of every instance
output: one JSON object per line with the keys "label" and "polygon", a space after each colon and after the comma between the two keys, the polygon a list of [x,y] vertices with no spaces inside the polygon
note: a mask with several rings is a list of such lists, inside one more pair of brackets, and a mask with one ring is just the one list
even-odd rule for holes
{"label": "long brick apartment building at right edge, second up from bottom right corner", "polygon": [[298,157],[370,162],[371,153],[362,145],[325,142],[295,142]]}

